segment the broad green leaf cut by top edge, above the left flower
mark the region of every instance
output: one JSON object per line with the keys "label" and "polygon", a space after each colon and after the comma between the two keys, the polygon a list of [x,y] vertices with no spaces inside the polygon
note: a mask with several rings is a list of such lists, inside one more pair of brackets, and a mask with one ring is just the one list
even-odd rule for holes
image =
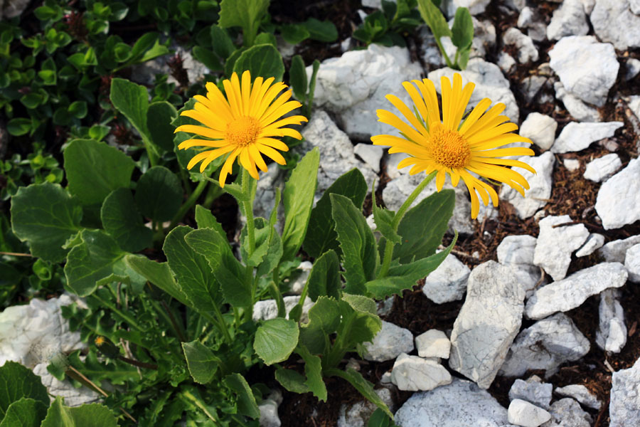
{"label": "broad green leaf cut by top edge, above the left flower", "polygon": [[245,46],[251,46],[268,7],[269,0],[223,0],[220,2],[218,25],[221,28],[242,27]]}

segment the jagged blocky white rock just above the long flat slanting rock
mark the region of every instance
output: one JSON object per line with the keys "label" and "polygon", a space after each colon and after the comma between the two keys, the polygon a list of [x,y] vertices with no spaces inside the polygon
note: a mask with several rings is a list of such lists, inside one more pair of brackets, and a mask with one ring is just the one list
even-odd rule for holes
{"label": "jagged blocky white rock just above the long flat slanting rock", "polygon": [[547,216],[540,220],[540,234],[535,245],[533,263],[540,265],[553,280],[560,280],[567,275],[571,263],[571,253],[580,248],[589,237],[584,224],[559,226],[570,223],[568,215]]}

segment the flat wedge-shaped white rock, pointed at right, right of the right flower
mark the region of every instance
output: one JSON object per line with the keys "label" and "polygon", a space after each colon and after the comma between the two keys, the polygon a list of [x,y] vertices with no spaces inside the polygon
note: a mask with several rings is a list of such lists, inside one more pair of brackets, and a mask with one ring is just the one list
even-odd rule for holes
{"label": "flat wedge-shaped white rock, pointed at right, right of the right flower", "polygon": [[623,122],[603,123],[568,123],[555,139],[551,151],[554,153],[577,152],[591,145],[592,142],[614,135]]}

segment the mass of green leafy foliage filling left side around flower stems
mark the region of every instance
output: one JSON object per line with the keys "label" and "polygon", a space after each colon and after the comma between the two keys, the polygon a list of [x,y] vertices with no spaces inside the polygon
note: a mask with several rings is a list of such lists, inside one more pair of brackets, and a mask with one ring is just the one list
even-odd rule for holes
{"label": "mass of green leafy foliage filling left side around flower stems", "polygon": [[[421,14],[432,28],[444,20],[429,0],[384,5],[384,16],[363,23],[355,38],[402,44],[400,33]],[[309,116],[319,61],[284,61],[276,36],[330,43],[338,31],[314,18],[276,23],[269,7],[268,0],[46,0],[0,21],[0,107],[10,135],[0,146],[0,305],[64,291],[83,297],[86,307],[64,307],[63,315],[87,348],[51,354],[48,371],[104,397],[79,408],[63,399],[48,405],[38,377],[7,362],[1,381],[14,384],[17,375],[25,385],[0,396],[1,426],[21,413],[31,414],[23,426],[97,418],[105,426],[257,425],[273,379],[326,401],[331,377],[380,408],[374,422],[390,425],[373,385],[344,369],[343,358],[380,330],[375,301],[411,289],[453,248],[455,238],[436,253],[453,191],[398,213],[374,200],[374,234],[363,216],[361,172],[344,171],[314,206],[319,151],[285,153],[284,190],[268,218],[253,218],[256,182],[245,169],[236,165],[235,181],[220,189],[214,178],[223,158],[189,171],[198,151],[177,148],[188,135],[175,128],[194,123],[180,113],[205,93],[181,56],[169,63],[172,83],[167,75],[149,85],[130,80],[134,65],[182,46],[222,90],[223,79],[245,70],[284,80]],[[464,31],[467,15],[456,17],[460,56],[450,61],[462,68],[473,35]],[[223,191],[247,217],[238,241],[212,214]],[[307,256],[314,268],[287,313],[287,278]],[[315,305],[303,322],[307,295]],[[269,298],[277,317],[254,317],[255,303]],[[290,357],[304,363],[282,364]]]}

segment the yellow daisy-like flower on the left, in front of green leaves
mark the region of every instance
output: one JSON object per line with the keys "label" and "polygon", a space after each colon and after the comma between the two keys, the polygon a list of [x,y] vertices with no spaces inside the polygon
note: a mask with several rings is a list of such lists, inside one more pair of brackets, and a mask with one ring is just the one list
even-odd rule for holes
{"label": "yellow daisy-like flower on the left, in front of green leaves", "polygon": [[223,80],[225,95],[213,83],[207,83],[207,96],[196,95],[196,105],[193,110],[186,110],[181,115],[191,117],[201,122],[203,126],[182,125],[175,132],[191,132],[206,139],[187,139],[178,145],[179,149],[190,147],[210,147],[193,156],[187,165],[191,169],[198,162],[200,172],[204,172],[208,164],[220,156],[228,154],[220,170],[220,186],[225,186],[225,179],[231,172],[233,162],[238,158],[239,164],[247,169],[249,174],[259,179],[256,166],[267,172],[267,164],[262,154],[270,157],[278,164],[284,164],[284,157],[277,152],[288,151],[289,147],[274,137],[289,136],[302,139],[297,130],[287,125],[300,125],[306,122],[306,117],[296,115],[280,119],[282,115],[300,107],[300,102],[289,101],[291,90],[287,90],[284,83],[272,84],[274,78],[262,77],[251,83],[249,71],[242,73],[242,82],[238,74],[233,73],[230,79]]}

